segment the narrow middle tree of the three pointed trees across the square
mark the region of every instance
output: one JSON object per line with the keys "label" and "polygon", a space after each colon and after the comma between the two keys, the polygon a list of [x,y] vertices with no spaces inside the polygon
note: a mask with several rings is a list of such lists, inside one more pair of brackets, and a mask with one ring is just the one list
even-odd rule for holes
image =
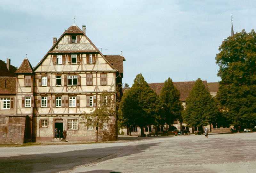
{"label": "narrow middle tree of the three pointed trees across the square", "polygon": [[180,91],[173,85],[170,77],[164,82],[160,100],[163,104],[163,116],[166,124],[170,126],[174,120],[181,120],[183,107],[180,101]]}

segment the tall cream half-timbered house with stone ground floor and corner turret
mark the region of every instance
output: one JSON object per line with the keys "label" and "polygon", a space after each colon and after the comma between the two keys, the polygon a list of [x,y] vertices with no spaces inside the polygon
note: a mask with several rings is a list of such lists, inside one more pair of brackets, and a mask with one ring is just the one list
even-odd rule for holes
{"label": "tall cream half-timbered house with stone ground floor and corner turret", "polygon": [[[0,110],[1,130],[5,132],[0,143],[51,141],[56,128],[67,130],[69,141],[94,141],[95,129],[84,115],[100,106],[100,99],[105,99],[109,108],[116,108],[116,100],[122,96],[124,60],[120,55],[102,55],[85,35],[85,26],[82,30],[70,26],[58,40],[53,37],[52,48],[36,67],[25,58],[12,77],[10,94],[0,93],[13,106]],[[101,97],[104,90],[109,98]],[[117,116],[109,116],[99,140],[116,139]],[[9,135],[17,129],[23,136]]]}

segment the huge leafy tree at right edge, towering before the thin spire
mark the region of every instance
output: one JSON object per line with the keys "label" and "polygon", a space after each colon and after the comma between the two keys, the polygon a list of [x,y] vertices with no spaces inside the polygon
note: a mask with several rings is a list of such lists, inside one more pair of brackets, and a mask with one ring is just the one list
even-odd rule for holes
{"label": "huge leafy tree at right edge, towering before the thin spire", "polygon": [[217,99],[233,125],[256,125],[256,33],[243,30],[225,39],[216,56],[221,77]]}

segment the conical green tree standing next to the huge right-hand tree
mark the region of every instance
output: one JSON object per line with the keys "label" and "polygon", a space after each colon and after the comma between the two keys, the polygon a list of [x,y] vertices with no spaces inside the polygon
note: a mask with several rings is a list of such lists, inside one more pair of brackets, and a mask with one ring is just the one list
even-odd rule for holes
{"label": "conical green tree standing next to the huge right-hand tree", "polygon": [[200,78],[186,98],[186,109],[182,116],[190,127],[205,126],[216,121],[218,108]]}

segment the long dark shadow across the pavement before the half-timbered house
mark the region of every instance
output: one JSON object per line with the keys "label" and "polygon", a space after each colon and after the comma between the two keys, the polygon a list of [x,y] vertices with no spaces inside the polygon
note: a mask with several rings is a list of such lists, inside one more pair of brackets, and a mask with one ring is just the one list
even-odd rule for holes
{"label": "long dark shadow across the pavement before the half-timbered house", "polygon": [[[136,149],[124,152],[121,156],[141,153],[158,143],[135,145]],[[72,147],[72,146],[71,146]],[[86,145],[85,145],[86,147]],[[96,161],[128,146],[74,150],[62,153],[29,154],[11,157],[0,157],[0,172],[59,172],[75,166]],[[61,146],[60,146],[61,149]],[[45,151],[47,152],[47,151]],[[116,155],[115,157],[120,157]]]}

